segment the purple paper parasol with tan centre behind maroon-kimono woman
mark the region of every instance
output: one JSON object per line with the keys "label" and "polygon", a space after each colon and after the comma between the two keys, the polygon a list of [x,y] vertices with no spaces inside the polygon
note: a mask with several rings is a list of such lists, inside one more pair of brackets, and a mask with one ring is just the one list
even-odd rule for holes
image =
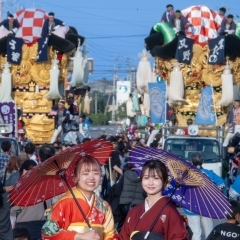
{"label": "purple paper parasol with tan centre behind maroon-kimono woman", "polygon": [[180,184],[172,196],[172,200],[180,207],[214,219],[226,218],[231,214],[225,195],[205,173],[191,163],[166,151],[149,147],[136,147],[130,153],[130,163],[139,175],[143,164],[149,160],[159,160],[168,168],[169,184],[163,191],[164,195],[170,195],[174,186]]}

